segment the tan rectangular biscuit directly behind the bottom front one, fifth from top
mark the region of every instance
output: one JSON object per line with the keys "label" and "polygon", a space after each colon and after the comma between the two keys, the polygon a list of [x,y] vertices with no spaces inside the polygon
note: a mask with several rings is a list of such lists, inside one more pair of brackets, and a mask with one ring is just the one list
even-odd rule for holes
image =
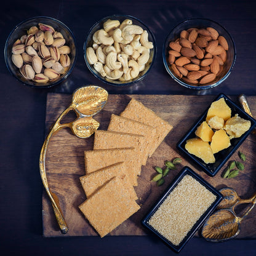
{"label": "tan rectangular biscuit directly behind the bottom front one, fifth from top", "polygon": [[130,183],[130,177],[127,174],[126,165],[124,162],[113,164],[112,166],[104,167],[103,169],[96,170],[90,174],[86,174],[80,177],[82,188],[86,193],[86,197],[89,198],[106,182],[109,182],[111,178],[119,176],[123,177],[124,182],[127,183],[127,190],[131,194],[133,199],[138,199],[135,193],[134,187]]}

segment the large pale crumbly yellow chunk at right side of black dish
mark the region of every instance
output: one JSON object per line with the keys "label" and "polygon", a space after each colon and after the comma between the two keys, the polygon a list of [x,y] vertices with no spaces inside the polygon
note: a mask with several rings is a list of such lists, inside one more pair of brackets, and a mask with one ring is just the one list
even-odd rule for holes
{"label": "large pale crumbly yellow chunk at right side of black dish", "polygon": [[233,118],[226,121],[224,129],[230,135],[230,138],[239,138],[250,129],[250,121],[235,114]]}

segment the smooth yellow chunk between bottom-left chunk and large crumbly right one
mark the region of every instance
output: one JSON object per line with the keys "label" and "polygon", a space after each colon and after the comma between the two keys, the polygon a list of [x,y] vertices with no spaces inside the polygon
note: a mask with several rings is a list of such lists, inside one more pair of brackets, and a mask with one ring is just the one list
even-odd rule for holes
{"label": "smooth yellow chunk between bottom-left chunk and large crumbly right one", "polygon": [[228,148],[230,145],[230,137],[228,137],[225,130],[221,129],[214,132],[212,142],[210,143],[210,148],[214,154]]}

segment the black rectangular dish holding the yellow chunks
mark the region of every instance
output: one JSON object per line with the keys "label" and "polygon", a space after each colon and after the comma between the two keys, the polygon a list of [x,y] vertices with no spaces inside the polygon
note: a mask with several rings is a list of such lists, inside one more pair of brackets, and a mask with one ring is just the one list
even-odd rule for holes
{"label": "black rectangular dish holding the yellow chunks", "polygon": [[226,104],[231,108],[231,117],[233,117],[235,114],[238,114],[240,118],[249,120],[251,123],[250,129],[247,130],[244,134],[241,135],[239,138],[232,138],[230,140],[231,145],[226,148],[225,150],[219,151],[218,153],[215,153],[215,162],[212,164],[206,164],[202,159],[194,156],[193,154],[188,153],[185,149],[186,140],[190,138],[196,137],[195,131],[200,126],[200,124],[203,121],[206,121],[207,111],[210,108],[209,107],[204,111],[202,116],[198,119],[198,121],[195,122],[195,124],[190,128],[187,134],[177,143],[177,148],[180,150],[185,156],[188,156],[192,161],[194,161],[196,164],[198,164],[199,167],[201,167],[206,174],[208,174],[211,177],[214,177],[217,172],[222,168],[222,166],[228,161],[228,159],[232,156],[232,154],[239,148],[239,146],[246,140],[247,136],[252,132],[254,127],[256,126],[256,121],[254,118],[249,116],[242,108],[240,108],[236,103],[234,103],[230,98],[228,98],[225,94],[218,95],[217,98],[215,98],[214,102],[219,100],[220,98],[224,98]]}

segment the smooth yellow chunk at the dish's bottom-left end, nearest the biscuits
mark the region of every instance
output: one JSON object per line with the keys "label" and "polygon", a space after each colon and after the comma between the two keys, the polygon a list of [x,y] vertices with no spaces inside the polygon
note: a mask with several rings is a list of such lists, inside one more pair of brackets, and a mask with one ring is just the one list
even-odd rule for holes
{"label": "smooth yellow chunk at the dish's bottom-left end, nearest the biscuits", "polygon": [[214,154],[208,142],[204,142],[201,138],[190,138],[186,141],[186,150],[190,154],[194,154],[201,158],[206,164],[215,162]]}

